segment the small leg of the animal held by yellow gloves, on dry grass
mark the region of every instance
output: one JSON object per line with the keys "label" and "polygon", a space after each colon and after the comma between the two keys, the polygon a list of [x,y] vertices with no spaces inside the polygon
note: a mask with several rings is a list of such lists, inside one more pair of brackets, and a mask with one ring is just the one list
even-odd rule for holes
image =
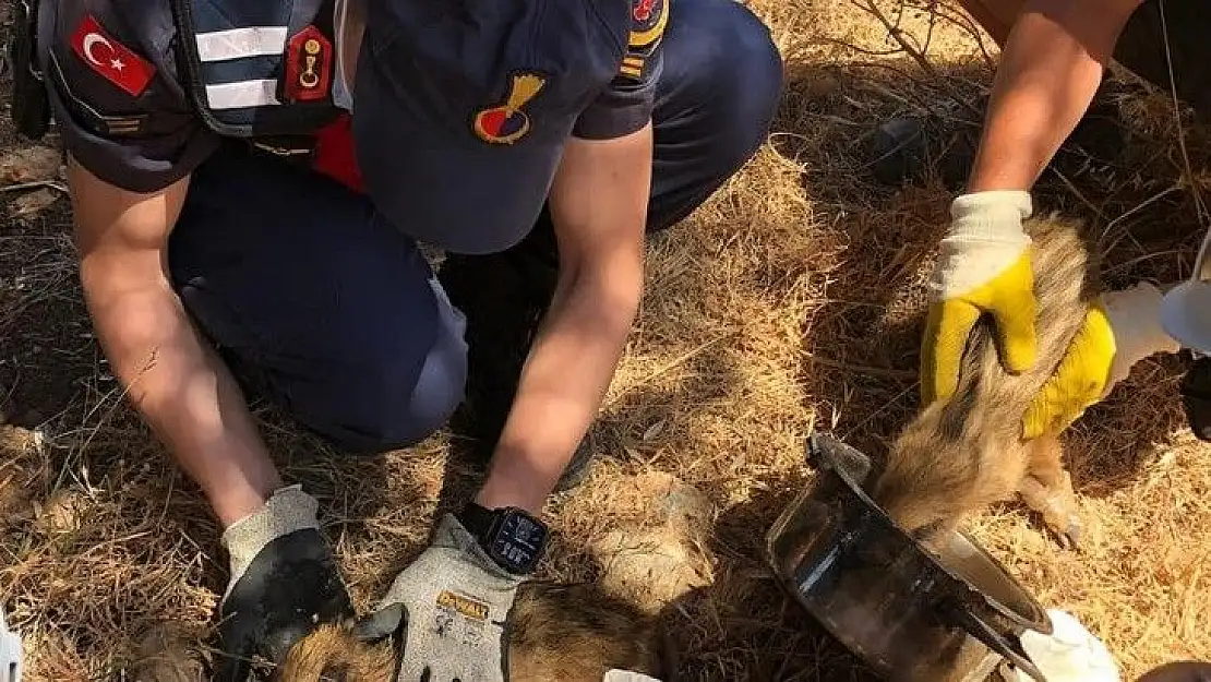
{"label": "small leg of the animal held by yellow gloves, on dry grass", "polygon": [[1083,523],[1072,489],[1072,476],[1063,466],[1060,440],[1055,435],[1044,435],[1027,447],[1029,469],[1018,493],[1028,508],[1043,515],[1043,522],[1064,549],[1075,549],[1080,543]]}

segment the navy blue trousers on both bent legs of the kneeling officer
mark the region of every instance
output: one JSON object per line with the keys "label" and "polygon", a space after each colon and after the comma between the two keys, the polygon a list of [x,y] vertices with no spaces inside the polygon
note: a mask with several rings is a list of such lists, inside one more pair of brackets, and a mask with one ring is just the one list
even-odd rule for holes
{"label": "navy blue trousers on both bent legs of the kneeling officer", "polygon": [[[673,12],[649,230],[688,216],[752,156],[782,85],[768,29],[746,7],[678,0]],[[550,233],[544,222],[535,233]],[[168,258],[184,305],[246,390],[339,449],[413,445],[463,399],[461,313],[412,239],[318,173],[224,145],[193,174]]]}

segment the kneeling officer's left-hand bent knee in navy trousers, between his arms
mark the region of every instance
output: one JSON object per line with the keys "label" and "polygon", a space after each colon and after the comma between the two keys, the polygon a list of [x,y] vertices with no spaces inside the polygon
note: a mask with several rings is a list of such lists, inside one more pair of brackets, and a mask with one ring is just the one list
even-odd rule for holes
{"label": "kneeling officer's left-hand bent knee in navy trousers, between his arms", "polygon": [[[351,453],[441,428],[463,395],[463,321],[412,239],[363,196],[240,147],[191,182],[173,283],[246,391]],[[258,201],[233,201],[246,187]]]}

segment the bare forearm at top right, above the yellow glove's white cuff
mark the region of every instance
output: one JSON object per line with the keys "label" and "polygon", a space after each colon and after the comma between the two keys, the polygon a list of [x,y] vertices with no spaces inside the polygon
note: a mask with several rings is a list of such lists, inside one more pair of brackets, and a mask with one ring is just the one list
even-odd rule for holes
{"label": "bare forearm at top right, above the yellow glove's white cuff", "polygon": [[1033,187],[1089,109],[1136,5],[1026,2],[1001,53],[968,191]]}

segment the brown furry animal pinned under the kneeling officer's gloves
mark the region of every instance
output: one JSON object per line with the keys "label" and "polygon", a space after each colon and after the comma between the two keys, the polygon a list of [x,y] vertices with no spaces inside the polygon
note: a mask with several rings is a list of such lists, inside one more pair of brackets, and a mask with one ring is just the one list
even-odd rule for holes
{"label": "brown furry animal pinned under the kneeling officer's gloves", "polygon": [[[614,667],[660,677],[665,667],[655,619],[593,585],[523,583],[512,627],[513,682],[601,682]],[[367,644],[328,625],[294,644],[274,680],[391,682],[396,665],[391,642]]]}

